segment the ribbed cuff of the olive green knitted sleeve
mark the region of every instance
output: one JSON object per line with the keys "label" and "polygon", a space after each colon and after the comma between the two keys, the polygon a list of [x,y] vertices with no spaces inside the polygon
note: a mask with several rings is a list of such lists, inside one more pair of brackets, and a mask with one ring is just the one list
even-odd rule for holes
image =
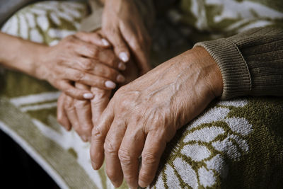
{"label": "ribbed cuff of the olive green knitted sleeve", "polygon": [[238,47],[230,40],[197,42],[194,47],[204,47],[218,64],[224,82],[221,99],[246,96],[251,91],[248,64]]}

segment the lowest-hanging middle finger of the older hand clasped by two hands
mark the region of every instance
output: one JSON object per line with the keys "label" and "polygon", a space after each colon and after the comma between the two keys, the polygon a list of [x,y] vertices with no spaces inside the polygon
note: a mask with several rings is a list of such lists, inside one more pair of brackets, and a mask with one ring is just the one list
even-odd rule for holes
{"label": "lowest-hanging middle finger of the older hand clasped by two hands", "polygon": [[[83,84],[76,83],[76,88],[87,89],[90,88]],[[91,122],[91,103],[90,101],[74,100],[74,106],[76,108],[76,115],[78,116],[79,129],[76,132],[81,136],[84,142],[87,142],[91,137],[91,130],[93,124]]]}

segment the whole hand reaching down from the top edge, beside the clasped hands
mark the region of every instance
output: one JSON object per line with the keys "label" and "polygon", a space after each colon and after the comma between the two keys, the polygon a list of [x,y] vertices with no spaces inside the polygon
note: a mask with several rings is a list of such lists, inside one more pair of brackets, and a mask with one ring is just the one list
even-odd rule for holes
{"label": "whole hand reaching down from the top edge, beside the clasped hands", "polygon": [[114,47],[117,57],[127,62],[132,53],[141,74],[151,69],[149,64],[151,39],[133,1],[106,0],[102,31]]}

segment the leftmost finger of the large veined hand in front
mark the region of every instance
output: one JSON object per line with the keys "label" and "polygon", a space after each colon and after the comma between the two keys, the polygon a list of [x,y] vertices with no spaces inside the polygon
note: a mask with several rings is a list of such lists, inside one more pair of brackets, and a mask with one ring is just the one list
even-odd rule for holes
{"label": "leftmost finger of the large veined hand in front", "polygon": [[100,119],[98,120],[98,125],[93,127],[91,135],[91,164],[93,169],[98,170],[103,164],[104,159],[104,149],[103,144],[114,119],[114,113],[112,105],[108,104],[108,107],[105,109]]}

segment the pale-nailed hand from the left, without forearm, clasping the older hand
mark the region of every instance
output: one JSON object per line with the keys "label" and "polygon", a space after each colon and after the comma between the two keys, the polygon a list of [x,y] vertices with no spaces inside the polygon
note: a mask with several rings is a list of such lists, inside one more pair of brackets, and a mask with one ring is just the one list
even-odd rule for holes
{"label": "pale-nailed hand from the left, without forearm, clasping the older hand", "polygon": [[110,90],[125,77],[118,69],[125,69],[109,48],[110,44],[98,33],[76,33],[53,47],[45,47],[38,55],[36,76],[77,99],[90,99],[93,94],[72,85],[74,81],[87,86]]}

